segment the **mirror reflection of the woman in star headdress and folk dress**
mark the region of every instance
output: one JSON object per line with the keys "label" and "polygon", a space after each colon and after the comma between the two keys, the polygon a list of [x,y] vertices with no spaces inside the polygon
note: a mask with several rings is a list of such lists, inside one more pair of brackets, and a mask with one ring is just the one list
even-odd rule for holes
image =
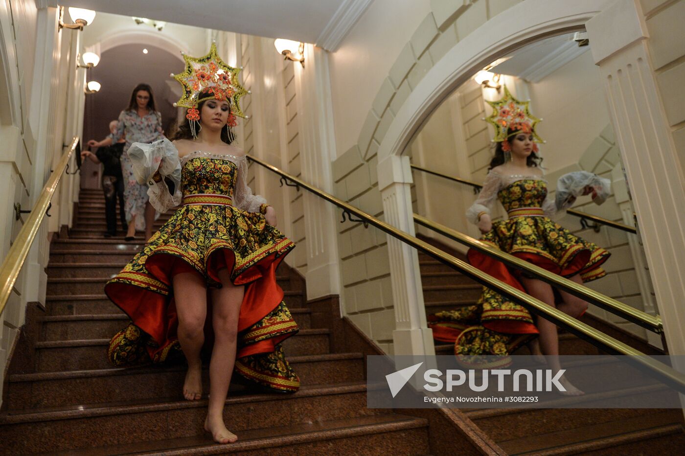
{"label": "mirror reflection of the woman in star headdress and folk dress", "polygon": [[[483,188],[466,212],[469,221],[483,233],[481,241],[576,283],[606,275],[601,264],[608,259],[608,251],[549,219],[572,205],[575,198],[569,197],[562,207],[557,207],[547,193],[536,144],[542,142],[535,132],[539,119],[530,114],[529,102],[514,99],[505,87],[500,101],[488,103],[494,111],[486,120],[495,125],[497,148]],[[595,199],[597,188],[583,189],[583,194],[590,193]],[[491,220],[495,200],[507,211],[507,220]],[[509,269],[484,253],[471,249],[467,256],[473,266],[569,316],[577,318],[588,307],[585,301],[563,290],[558,290],[562,302],[556,303],[548,283]],[[544,355],[549,355],[549,367],[560,368],[555,356],[559,354],[556,325],[542,317],[534,320],[524,307],[488,288],[483,289],[477,305],[438,312],[429,320],[437,340],[455,342],[456,355],[502,355],[502,364],[510,362],[506,355],[539,335],[539,342],[534,339],[529,345],[532,353],[539,355],[542,349]],[[583,394],[565,377],[562,384],[568,395]]]}

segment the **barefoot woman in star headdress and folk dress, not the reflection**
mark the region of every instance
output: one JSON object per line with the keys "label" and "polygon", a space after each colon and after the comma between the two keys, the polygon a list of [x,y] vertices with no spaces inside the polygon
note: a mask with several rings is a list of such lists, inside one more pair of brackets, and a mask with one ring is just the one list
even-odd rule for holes
{"label": "barefoot woman in star headdress and folk dress, not the reflection", "polygon": [[275,278],[295,245],[275,228],[273,207],[252,194],[245,153],[231,144],[235,116],[243,116],[240,97],[247,93],[239,70],[222,62],[214,45],[203,58],[184,58],[186,71],[175,79],[184,88],[177,105],[188,107],[188,114],[177,139],[131,147],[134,153],[163,148],[167,157],[177,154],[180,188],[170,190],[157,173],[150,194],[162,212],[182,206],[105,286],[132,319],[112,338],[108,355],[115,366],[138,366],[182,351],[188,361],[184,396],[197,400],[200,351],[213,341],[205,429],[227,443],[237,439],[223,421],[234,368],[274,391],[299,389],[280,345],[298,327]]}

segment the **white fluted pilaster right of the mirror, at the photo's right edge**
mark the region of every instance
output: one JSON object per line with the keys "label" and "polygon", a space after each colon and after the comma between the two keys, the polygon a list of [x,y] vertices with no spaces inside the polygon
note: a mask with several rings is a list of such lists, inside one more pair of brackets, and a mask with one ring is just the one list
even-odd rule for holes
{"label": "white fluted pilaster right of the mirror, at the photo's right edge", "polygon": [[685,354],[685,177],[635,0],[619,0],[586,24],[604,80],[669,353]]}

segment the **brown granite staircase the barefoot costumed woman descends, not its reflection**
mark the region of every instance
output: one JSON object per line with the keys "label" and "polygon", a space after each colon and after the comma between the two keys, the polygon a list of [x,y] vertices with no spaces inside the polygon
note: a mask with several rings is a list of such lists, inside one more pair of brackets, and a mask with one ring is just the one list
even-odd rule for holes
{"label": "brown granite staircase the barefoot costumed woman descends, not its reflection", "polygon": [[[162,215],[155,227],[168,218]],[[35,327],[23,329],[36,334],[35,344],[22,352],[30,356],[12,359],[0,413],[1,454],[429,452],[427,419],[366,408],[364,355],[334,353],[331,330],[312,327],[304,283],[284,263],[277,280],[301,327],[284,348],[301,390],[264,394],[232,385],[225,420],[240,440],[214,444],[202,429],[206,398],[182,397],[184,366],[113,368],[106,360],[109,338],[127,318],[106,298],[103,285],[142,239],[124,242],[123,233],[102,238],[99,190],[82,190],[69,231],[68,239],[51,246],[46,311],[27,323]],[[203,375],[208,381],[206,370]]]}

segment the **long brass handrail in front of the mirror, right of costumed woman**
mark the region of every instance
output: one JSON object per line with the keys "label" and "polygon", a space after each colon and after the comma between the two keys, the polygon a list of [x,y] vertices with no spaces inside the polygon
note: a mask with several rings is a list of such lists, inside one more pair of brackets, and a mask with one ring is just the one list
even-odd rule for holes
{"label": "long brass handrail in front of the mirror, right of costumed woman", "polygon": [[285,178],[286,180],[295,183],[301,188],[308,190],[316,196],[321,197],[326,201],[329,201],[329,203],[333,203],[334,205],[343,209],[343,212],[347,212],[347,214],[355,214],[356,216],[360,217],[364,223],[368,223],[369,225],[377,227],[381,231],[384,231],[385,233],[388,233],[390,236],[393,236],[393,238],[398,239],[401,242],[404,242],[405,244],[409,244],[410,246],[414,247],[414,249],[422,251],[423,253],[426,253],[427,255],[434,257],[438,261],[443,262],[444,264],[450,266],[453,269],[460,270],[467,277],[471,277],[471,279],[474,279],[478,283],[481,283],[483,286],[486,286],[491,290],[495,290],[499,294],[506,296],[508,299],[511,299],[515,303],[523,305],[535,314],[542,316],[546,320],[553,322],[555,325],[558,325],[570,331],[571,333],[577,335],[579,338],[586,340],[590,342],[590,344],[597,346],[599,349],[607,351],[608,353],[614,353],[619,355],[631,355],[630,360],[634,364],[643,368],[647,368],[651,372],[651,374],[655,377],[658,377],[660,381],[667,383],[671,387],[685,394],[685,375],[671,368],[670,366],[667,366],[662,362],[656,361],[656,359],[653,359],[645,355],[645,353],[642,353],[632,348],[632,346],[628,346],[623,342],[612,338],[610,335],[606,335],[601,331],[597,331],[597,329],[590,327],[589,325],[586,325],[584,322],[581,322],[571,316],[564,314],[555,307],[552,307],[551,305],[547,305],[543,301],[535,299],[533,296],[521,292],[521,290],[518,290],[510,286],[508,283],[504,283],[503,281],[491,277],[487,273],[484,273],[482,270],[479,270],[474,266],[471,266],[470,264],[462,261],[461,259],[453,257],[452,255],[449,255],[449,253],[446,253],[445,251],[442,251],[436,248],[435,246],[428,244],[425,241],[415,238],[414,236],[411,236],[410,234],[405,233],[404,231],[401,231],[391,225],[388,225],[387,223],[378,220],[370,214],[366,214],[366,212],[354,206],[351,206],[345,203],[344,201],[341,201],[340,199],[337,199],[331,194],[328,194],[323,190],[319,190],[319,188],[310,186],[308,183],[302,181],[301,179],[298,179],[297,177],[290,175],[285,171],[276,168],[273,165],[270,165],[266,162],[262,162],[262,160],[259,160],[255,157],[251,157],[249,155],[247,156],[247,158],[248,160],[251,160],[256,164],[259,164],[260,166],[264,166],[264,168],[271,170],[273,173]]}

